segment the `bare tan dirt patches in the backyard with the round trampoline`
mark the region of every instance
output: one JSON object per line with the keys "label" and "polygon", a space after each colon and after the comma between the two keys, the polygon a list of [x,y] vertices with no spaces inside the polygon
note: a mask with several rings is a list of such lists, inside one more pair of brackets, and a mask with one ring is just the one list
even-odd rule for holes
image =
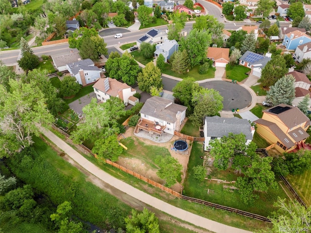
{"label": "bare tan dirt patches in the backyard with the round trampoline", "polygon": [[[190,150],[188,149],[188,153],[182,154],[182,153],[177,153],[173,150],[171,150],[171,147],[173,145],[173,143],[175,142],[175,140],[179,139],[178,136],[174,135],[173,138],[165,143],[157,143],[155,144],[155,142],[151,141],[150,139],[147,138],[141,138],[141,137],[137,137],[136,135],[134,135],[134,127],[130,127],[126,130],[125,133],[122,133],[123,136],[126,137],[132,137],[135,138],[136,140],[142,141],[147,145],[156,145],[159,147],[165,147],[169,150],[171,156],[175,159],[177,159],[178,163],[181,164],[183,166],[182,169],[182,181],[181,183],[176,183],[174,184],[171,188],[176,191],[176,192],[181,192],[182,190],[182,183],[184,182],[184,178],[185,178],[185,174],[187,171],[187,166],[188,166],[188,162],[189,162],[189,156],[190,156]],[[190,141],[187,140],[188,146]],[[142,176],[145,176],[155,182],[158,183],[163,183],[163,181],[157,177],[156,175],[156,171],[157,169],[152,168],[150,166],[146,166],[143,162],[141,162],[139,159],[137,158],[119,158],[119,160],[117,161],[117,163],[121,166],[124,166],[132,171],[135,171],[137,173],[139,173]]]}

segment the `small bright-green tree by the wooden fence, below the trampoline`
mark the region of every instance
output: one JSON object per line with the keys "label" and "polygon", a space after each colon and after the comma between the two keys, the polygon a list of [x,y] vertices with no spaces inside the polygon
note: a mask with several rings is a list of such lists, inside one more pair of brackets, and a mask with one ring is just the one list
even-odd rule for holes
{"label": "small bright-green tree by the wooden fence, below the trampoline", "polygon": [[156,174],[165,181],[164,185],[166,187],[174,185],[183,166],[172,156],[163,157],[163,155],[156,156],[155,164],[160,168]]}

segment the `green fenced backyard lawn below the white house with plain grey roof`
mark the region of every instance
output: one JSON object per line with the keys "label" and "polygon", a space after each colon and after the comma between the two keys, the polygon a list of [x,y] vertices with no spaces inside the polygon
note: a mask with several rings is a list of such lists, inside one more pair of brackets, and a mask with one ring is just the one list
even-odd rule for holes
{"label": "green fenced backyard lawn below the white house with plain grey roof", "polygon": [[[202,144],[194,142],[188,164],[187,178],[184,185],[184,195],[230,206],[261,216],[269,216],[271,212],[276,211],[276,207],[274,207],[273,204],[276,202],[277,197],[282,199],[286,198],[286,194],[283,189],[278,185],[277,189],[269,189],[266,194],[259,193],[260,198],[255,200],[254,203],[244,204],[240,199],[238,190],[229,188],[232,184],[210,182],[209,180],[198,182],[193,177],[192,167],[203,165],[203,160],[200,158],[203,154]],[[211,173],[211,176],[212,178],[220,178],[224,180],[237,179],[237,175],[230,170],[224,172],[215,171],[214,173]],[[214,193],[207,194],[207,189],[214,190]]]}

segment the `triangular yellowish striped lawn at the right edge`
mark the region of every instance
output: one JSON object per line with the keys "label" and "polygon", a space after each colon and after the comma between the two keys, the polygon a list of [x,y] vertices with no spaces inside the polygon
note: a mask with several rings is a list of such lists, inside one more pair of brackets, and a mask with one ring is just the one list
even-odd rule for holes
{"label": "triangular yellowish striped lawn at the right edge", "polygon": [[306,205],[311,206],[311,170],[305,171],[301,175],[288,175],[286,179],[292,184]]}

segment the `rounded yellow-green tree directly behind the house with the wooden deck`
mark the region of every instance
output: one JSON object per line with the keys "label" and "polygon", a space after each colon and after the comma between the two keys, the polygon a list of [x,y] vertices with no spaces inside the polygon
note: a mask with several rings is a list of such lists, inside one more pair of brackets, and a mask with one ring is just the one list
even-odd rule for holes
{"label": "rounded yellow-green tree directly behind the house with the wooden deck", "polygon": [[163,86],[161,70],[153,62],[149,62],[142,69],[142,72],[138,74],[137,82],[140,90],[150,93],[150,87],[155,86],[156,88],[160,88]]}

